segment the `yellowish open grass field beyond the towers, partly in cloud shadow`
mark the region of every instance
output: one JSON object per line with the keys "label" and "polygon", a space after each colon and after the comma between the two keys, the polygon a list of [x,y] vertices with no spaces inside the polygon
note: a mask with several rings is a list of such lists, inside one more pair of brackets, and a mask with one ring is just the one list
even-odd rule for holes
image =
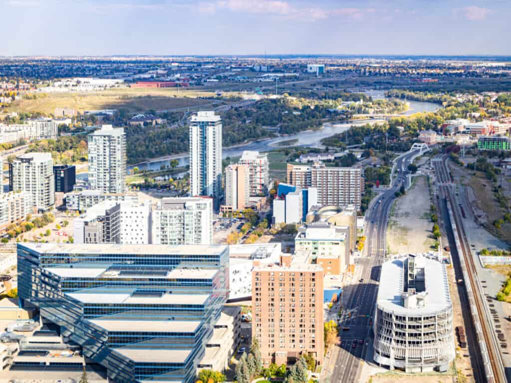
{"label": "yellowish open grass field beyond the towers, partly in cloud shadow", "polygon": [[94,109],[128,109],[144,112],[150,109],[167,110],[206,105],[221,105],[221,100],[205,100],[213,92],[176,89],[131,89],[115,88],[100,92],[37,93],[36,100],[13,102],[13,112],[54,113],[55,108],[74,108],[79,112]]}

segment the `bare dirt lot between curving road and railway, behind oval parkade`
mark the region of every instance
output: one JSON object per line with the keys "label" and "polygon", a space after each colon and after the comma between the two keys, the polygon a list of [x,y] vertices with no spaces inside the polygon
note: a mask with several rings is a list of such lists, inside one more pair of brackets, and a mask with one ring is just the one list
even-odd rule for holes
{"label": "bare dirt lot between curving road and railway, behind oval parkade", "polygon": [[408,192],[392,206],[387,229],[389,252],[394,254],[431,251],[433,224],[429,220],[429,188],[426,177],[416,177]]}

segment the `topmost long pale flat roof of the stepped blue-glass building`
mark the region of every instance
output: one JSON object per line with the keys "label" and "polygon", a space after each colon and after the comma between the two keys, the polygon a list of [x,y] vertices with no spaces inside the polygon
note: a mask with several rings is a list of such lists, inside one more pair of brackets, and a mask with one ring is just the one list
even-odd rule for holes
{"label": "topmost long pale flat roof of the stepped blue-glass building", "polygon": [[225,245],[18,244],[41,254],[220,255]]}

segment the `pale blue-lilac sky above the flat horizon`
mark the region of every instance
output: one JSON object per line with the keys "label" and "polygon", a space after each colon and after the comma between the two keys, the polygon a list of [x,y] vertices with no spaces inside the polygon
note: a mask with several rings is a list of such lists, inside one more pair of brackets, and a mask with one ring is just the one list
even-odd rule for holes
{"label": "pale blue-lilac sky above the flat horizon", "polygon": [[508,0],[0,0],[0,56],[511,55]]}

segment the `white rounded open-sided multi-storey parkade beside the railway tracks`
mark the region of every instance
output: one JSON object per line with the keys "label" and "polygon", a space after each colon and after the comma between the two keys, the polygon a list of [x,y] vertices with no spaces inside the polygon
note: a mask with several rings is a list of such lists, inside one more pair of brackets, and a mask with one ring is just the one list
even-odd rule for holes
{"label": "white rounded open-sided multi-storey parkade beside the railway tracks", "polygon": [[442,262],[413,254],[385,262],[376,306],[376,363],[406,372],[447,371],[455,351]]}

